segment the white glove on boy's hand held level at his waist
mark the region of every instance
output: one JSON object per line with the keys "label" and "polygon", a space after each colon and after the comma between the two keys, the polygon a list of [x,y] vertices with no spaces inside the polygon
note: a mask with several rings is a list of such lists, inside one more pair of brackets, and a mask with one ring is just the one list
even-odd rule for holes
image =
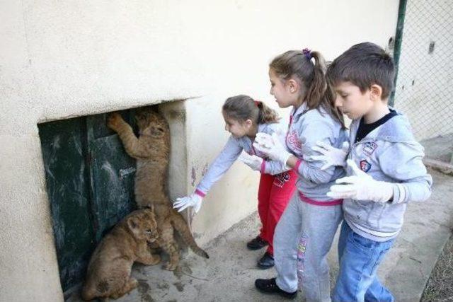
{"label": "white glove on boy's hand held level at his waist", "polygon": [[336,183],[345,185],[331,186],[331,190],[327,192],[328,197],[389,202],[394,194],[394,184],[374,180],[370,175],[360,170],[351,159],[348,159],[347,163],[355,175],[336,180]]}

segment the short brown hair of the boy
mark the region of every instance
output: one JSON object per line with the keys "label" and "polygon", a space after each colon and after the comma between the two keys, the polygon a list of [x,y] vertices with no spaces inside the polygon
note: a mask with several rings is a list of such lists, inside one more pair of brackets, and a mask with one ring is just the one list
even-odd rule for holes
{"label": "short brown hair of the boy", "polygon": [[384,49],[374,43],[364,42],[350,47],[333,60],[327,69],[332,85],[349,81],[365,93],[372,85],[382,87],[382,99],[389,97],[394,88],[394,61]]}

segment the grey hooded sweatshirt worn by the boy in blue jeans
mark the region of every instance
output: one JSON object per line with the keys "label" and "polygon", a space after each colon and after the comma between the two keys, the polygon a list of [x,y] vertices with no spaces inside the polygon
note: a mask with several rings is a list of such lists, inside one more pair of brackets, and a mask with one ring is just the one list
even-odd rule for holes
{"label": "grey hooded sweatshirt worn by the boy in blue jeans", "polygon": [[[370,200],[345,199],[345,221],[355,233],[375,241],[395,238],[403,225],[408,202],[423,202],[430,197],[432,178],[422,158],[423,146],[413,137],[404,115],[397,115],[354,143],[360,120],[350,127],[351,158],[374,180],[395,183],[394,197],[381,204]],[[348,169],[348,175],[352,171]]]}

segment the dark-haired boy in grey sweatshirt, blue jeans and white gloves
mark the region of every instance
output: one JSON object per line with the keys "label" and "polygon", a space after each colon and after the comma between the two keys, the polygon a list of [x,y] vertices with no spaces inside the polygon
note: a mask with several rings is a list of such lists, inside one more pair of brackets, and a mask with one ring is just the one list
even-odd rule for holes
{"label": "dark-haired boy in grey sweatshirt, blue jeans and white gloves", "polygon": [[333,301],[394,301],[377,279],[377,267],[403,225],[408,202],[430,197],[432,178],[422,163],[406,117],[389,108],[394,62],[369,42],[350,47],[328,67],[336,106],[352,120],[350,151],[316,148],[328,165],[346,165],[347,177],[331,186],[343,198],[338,242],[340,272]]}

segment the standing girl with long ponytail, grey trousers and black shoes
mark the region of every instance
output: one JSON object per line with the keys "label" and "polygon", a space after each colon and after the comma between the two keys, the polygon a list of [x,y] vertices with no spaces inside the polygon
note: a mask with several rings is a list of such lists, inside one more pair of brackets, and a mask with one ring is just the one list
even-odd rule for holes
{"label": "standing girl with long ponytail, grey trousers and black shoes", "polygon": [[316,150],[316,143],[322,142],[341,149],[348,133],[343,115],[335,108],[319,52],[304,49],[280,54],[270,63],[269,77],[270,94],[280,108],[292,106],[289,129],[284,144],[275,135],[258,133],[253,146],[296,171],[297,194],[275,228],[277,277],[256,279],[255,286],[268,294],[294,298],[299,284],[306,301],[331,301],[327,254],[343,219],[343,199],[326,193],[344,170],[312,160],[318,154],[311,147]]}

